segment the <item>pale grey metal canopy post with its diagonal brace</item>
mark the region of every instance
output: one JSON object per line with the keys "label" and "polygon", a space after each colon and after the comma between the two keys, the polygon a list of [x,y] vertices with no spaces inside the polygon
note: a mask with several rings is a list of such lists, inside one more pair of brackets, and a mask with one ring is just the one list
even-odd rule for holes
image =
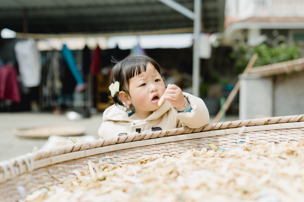
{"label": "pale grey metal canopy post with its diagonal brace", "polygon": [[194,0],[194,11],[175,2],[174,0],[158,0],[177,12],[193,20],[193,64],[192,64],[192,94],[199,95],[200,58],[199,58],[199,34],[201,31],[201,0]]}

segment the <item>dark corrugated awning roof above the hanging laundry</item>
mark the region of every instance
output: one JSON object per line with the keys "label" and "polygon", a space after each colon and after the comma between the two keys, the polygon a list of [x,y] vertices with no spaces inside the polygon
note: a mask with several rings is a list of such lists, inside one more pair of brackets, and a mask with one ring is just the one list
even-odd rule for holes
{"label": "dark corrugated awning roof above the hanging laundry", "polygon": [[[194,9],[193,0],[175,1]],[[224,7],[225,0],[202,1],[202,31],[222,31]],[[36,34],[165,34],[193,32],[193,21],[159,0],[2,0],[3,28]]]}

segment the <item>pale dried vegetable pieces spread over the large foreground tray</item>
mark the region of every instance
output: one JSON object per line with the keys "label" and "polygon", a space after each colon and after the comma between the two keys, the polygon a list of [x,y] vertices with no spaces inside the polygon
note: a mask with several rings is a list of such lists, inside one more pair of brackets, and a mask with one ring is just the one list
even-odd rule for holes
{"label": "pale dried vegetable pieces spread over the large foreground tray", "polygon": [[302,201],[304,141],[239,144],[226,151],[143,156],[136,164],[73,170],[74,180],[27,201]]}

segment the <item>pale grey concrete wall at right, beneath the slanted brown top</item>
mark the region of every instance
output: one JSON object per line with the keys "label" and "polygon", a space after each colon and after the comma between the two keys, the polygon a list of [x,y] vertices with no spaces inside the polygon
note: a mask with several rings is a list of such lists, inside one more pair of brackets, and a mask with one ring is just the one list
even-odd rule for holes
{"label": "pale grey concrete wall at right, beneath the slanted brown top", "polygon": [[304,71],[265,78],[240,75],[240,120],[296,114],[304,114]]}

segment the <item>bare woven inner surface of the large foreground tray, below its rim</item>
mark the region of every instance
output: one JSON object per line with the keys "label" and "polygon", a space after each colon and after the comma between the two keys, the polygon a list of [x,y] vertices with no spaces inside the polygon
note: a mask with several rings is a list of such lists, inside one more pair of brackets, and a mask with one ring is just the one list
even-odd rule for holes
{"label": "bare woven inner surface of the large foreground tray, below its rim", "polygon": [[[188,151],[191,147],[197,150],[201,148],[218,150],[219,148],[236,147],[246,141],[268,142],[278,144],[280,142],[294,142],[304,138],[304,128],[265,130],[244,132],[241,134],[226,134],[205,138],[194,138],[191,140],[174,141],[162,144],[153,144],[142,147],[133,147],[121,149],[102,154],[96,154],[85,158],[77,158],[42,167],[29,173],[22,174],[12,178],[9,181],[0,184],[0,200],[15,201],[21,199],[16,189],[17,185],[23,186],[27,194],[40,188],[50,189],[50,186],[62,184],[67,180],[75,179],[73,170],[77,169],[81,173],[88,174],[88,161],[94,164],[129,164],[139,161],[145,155],[162,154],[168,156],[179,155]],[[209,144],[215,144],[218,148],[211,148]]]}

